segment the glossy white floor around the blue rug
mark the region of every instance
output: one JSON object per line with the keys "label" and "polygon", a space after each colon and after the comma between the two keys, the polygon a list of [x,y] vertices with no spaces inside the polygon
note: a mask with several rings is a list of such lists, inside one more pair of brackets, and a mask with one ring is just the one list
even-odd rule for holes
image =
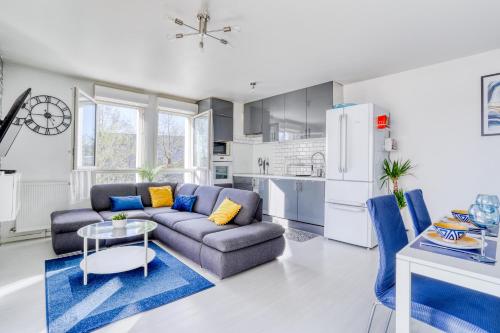
{"label": "glossy white floor around the blue rug", "polygon": [[[364,332],[378,251],[314,238],[287,242],[278,260],[218,280],[170,251],[216,286],[108,325],[99,332]],[[0,246],[0,332],[45,332],[44,259],[50,239]],[[382,332],[379,307],[372,332]],[[415,332],[435,332],[415,322]],[[394,331],[394,321],[390,331]]]}

